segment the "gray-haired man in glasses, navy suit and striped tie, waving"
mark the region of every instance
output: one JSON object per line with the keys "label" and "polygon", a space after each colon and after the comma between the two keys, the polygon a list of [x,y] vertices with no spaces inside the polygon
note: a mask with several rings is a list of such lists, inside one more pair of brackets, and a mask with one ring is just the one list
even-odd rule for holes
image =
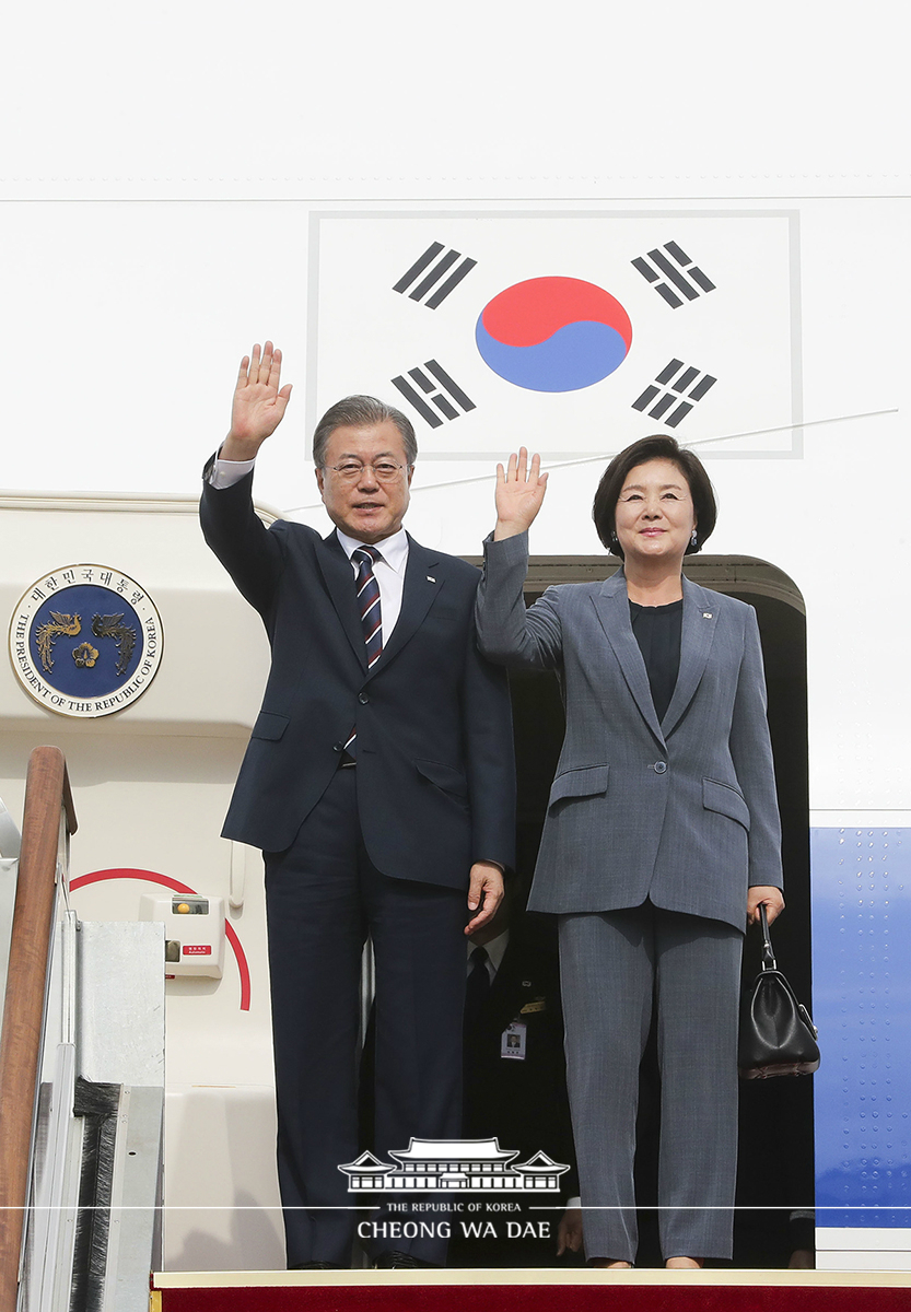
{"label": "gray-haired man in glasses, navy suit and striped tie, waving", "polygon": [[[505,681],[475,647],[478,572],[402,529],[416,454],[404,415],[354,396],[318,425],[328,538],[282,520],[266,530],[253,512],[252,461],[290,396],[280,373],[270,342],[244,357],[201,516],[272,643],[223,834],[265,858],[287,1265],[341,1267],[357,1215],[339,1166],[358,1152],[364,941],[377,1149],[457,1139],[462,935],[494,914],[512,862],[512,736]],[[362,1215],[377,1265],[445,1260],[433,1227]]]}

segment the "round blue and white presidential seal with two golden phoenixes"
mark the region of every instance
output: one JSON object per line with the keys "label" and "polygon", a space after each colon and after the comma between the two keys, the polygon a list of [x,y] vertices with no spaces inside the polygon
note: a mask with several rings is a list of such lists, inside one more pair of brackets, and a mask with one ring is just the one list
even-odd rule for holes
{"label": "round blue and white presidential seal with two golden phoenixes", "polygon": [[158,673],[161,617],[135,579],[108,565],[42,575],[9,626],[9,659],[39,706],[74,719],[113,715]]}

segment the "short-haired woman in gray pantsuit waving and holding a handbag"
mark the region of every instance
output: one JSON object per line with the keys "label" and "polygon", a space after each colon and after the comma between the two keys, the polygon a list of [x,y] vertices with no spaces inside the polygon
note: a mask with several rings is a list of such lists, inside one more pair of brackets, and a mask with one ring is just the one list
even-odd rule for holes
{"label": "short-haired woman in gray pantsuit waving and holding a handbag", "polygon": [[709,478],[672,437],[608,466],[593,516],[624,568],[528,611],[536,455],[498,466],[478,634],[504,665],[554,669],[566,739],[529,909],[559,916],[584,1237],[630,1266],[638,1069],[655,1005],[659,1227],[669,1267],[731,1256],[738,996],[747,921],[784,907],[765,681],[752,606],[683,576],[715,522]]}

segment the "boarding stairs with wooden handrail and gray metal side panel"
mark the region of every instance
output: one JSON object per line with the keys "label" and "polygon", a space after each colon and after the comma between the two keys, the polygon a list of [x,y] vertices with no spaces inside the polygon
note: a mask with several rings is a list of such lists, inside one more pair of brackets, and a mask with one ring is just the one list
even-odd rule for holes
{"label": "boarding stairs with wooden handrail and gray metal side panel", "polygon": [[63,754],[0,811],[0,1312],[140,1312],[159,1260],[163,926],[68,907]]}

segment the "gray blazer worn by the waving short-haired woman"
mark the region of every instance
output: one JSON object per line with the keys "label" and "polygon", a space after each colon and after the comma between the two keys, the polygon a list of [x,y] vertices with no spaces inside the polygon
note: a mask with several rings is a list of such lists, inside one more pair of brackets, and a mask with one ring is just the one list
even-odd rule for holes
{"label": "gray blazer worn by the waving short-haired woman", "polygon": [[566,739],[530,911],[658,907],[746,924],[781,887],[781,828],[752,606],[684,579],[677,685],[658,723],[626,580],[549,588],[526,611],[528,534],[484,543],[478,636],[492,661],[557,670]]}

